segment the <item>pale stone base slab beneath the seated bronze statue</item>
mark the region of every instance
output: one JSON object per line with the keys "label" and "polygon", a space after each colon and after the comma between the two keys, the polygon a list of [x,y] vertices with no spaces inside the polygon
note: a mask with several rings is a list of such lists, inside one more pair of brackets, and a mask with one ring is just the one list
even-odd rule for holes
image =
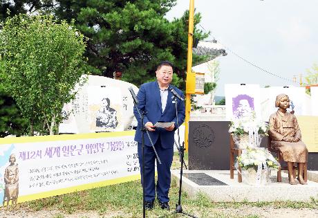
{"label": "pale stone base slab beneath the seated bronze statue", "polygon": [[[212,201],[310,201],[311,198],[318,198],[318,183],[308,181],[308,185],[290,185],[288,183],[288,174],[283,173],[282,182],[277,182],[276,172],[271,172],[270,183],[266,185],[248,185],[244,181],[238,183],[237,172],[234,179],[230,179],[230,170],[183,170],[183,174],[203,173],[225,183],[217,185],[198,185],[189,176],[187,179],[183,176],[183,190],[190,196],[195,196],[199,192],[207,194]],[[171,170],[172,177],[176,179],[179,185],[180,170]],[[206,177],[206,176],[205,176]]]}

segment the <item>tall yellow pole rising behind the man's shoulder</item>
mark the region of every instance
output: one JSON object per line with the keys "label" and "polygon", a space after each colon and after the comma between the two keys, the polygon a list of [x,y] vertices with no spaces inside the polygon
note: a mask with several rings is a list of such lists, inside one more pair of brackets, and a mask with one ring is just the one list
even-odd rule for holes
{"label": "tall yellow pole rising behind the man's shoulder", "polygon": [[[189,75],[192,73],[192,46],[194,36],[194,0],[190,0],[189,8],[189,33],[188,33],[188,54],[187,54],[187,79],[185,82],[186,90],[189,86]],[[185,93],[185,149],[189,146],[189,120],[191,111],[191,93]]]}

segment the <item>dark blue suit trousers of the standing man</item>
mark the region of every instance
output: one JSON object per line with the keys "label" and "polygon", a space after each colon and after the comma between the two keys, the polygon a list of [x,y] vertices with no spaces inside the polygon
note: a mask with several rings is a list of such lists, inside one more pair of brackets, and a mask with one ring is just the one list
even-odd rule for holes
{"label": "dark blue suit trousers of the standing man", "polygon": [[[171,183],[170,167],[174,156],[174,147],[164,149],[161,146],[160,137],[155,143],[157,154],[161,164],[156,160],[156,154],[152,146],[144,146],[144,201],[154,201],[156,193],[160,202],[169,201],[169,189]],[[138,158],[140,174],[142,176],[142,145],[138,143]],[[158,181],[155,185],[155,161],[157,161]]]}

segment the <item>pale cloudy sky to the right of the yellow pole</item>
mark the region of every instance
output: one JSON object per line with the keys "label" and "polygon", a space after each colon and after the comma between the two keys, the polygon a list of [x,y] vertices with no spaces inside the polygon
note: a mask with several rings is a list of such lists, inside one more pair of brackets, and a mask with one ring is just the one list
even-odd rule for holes
{"label": "pale cloudy sky to the right of the yellow pole", "polygon": [[[224,95],[227,83],[283,86],[297,75],[294,85],[299,85],[299,75],[306,76],[318,63],[317,0],[195,0],[194,5],[203,17],[201,29],[212,33],[207,40],[215,37],[228,53],[218,58],[218,96]],[[189,0],[178,0],[167,18],[180,17],[187,9]]]}

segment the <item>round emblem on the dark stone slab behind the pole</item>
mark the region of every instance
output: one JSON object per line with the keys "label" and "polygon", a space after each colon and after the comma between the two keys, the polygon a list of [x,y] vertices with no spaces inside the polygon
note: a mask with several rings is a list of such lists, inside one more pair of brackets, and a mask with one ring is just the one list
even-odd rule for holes
{"label": "round emblem on the dark stone slab behind the pole", "polygon": [[198,147],[210,147],[214,143],[215,134],[208,125],[199,125],[193,131],[194,145]]}

